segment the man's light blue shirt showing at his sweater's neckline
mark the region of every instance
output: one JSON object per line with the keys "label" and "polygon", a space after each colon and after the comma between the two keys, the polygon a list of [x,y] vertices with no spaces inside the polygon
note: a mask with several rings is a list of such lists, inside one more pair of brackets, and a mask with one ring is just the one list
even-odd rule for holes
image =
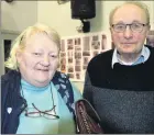
{"label": "man's light blue shirt showing at his sweater's neckline", "polygon": [[[150,57],[150,54],[151,54],[150,49],[146,46],[143,45],[143,48],[142,48],[140,57],[134,63],[132,63],[131,65],[138,65],[138,64],[146,61],[148,59],[148,57]],[[122,65],[130,65],[130,64],[123,63],[119,58],[119,54],[118,54],[117,48],[114,49],[113,56],[112,56],[112,68],[113,68],[113,65],[116,63],[120,63]]]}

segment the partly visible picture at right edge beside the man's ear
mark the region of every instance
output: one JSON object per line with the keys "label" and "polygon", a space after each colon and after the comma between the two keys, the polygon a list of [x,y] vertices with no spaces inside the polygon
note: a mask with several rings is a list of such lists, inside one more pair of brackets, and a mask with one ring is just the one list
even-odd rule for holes
{"label": "partly visible picture at right edge beside the man's ear", "polygon": [[154,30],[151,30],[146,37],[146,45],[154,47]]}

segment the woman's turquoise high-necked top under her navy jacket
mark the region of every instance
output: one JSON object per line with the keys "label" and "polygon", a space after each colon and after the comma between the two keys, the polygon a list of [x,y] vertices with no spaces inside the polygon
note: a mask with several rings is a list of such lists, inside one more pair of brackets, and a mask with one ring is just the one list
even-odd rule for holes
{"label": "woman's turquoise high-necked top under her navy jacket", "polygon": [[[62,99],[59,92],[53,82],[45,88],[36,88],[24,80],[21,80],[23,95],[29,108],[33,108],[32,103],[41,110],[50,110],[53,108],[52,93],[54,97],[55,112],[59,119],[45,119],[25,116],[25,112],[20,115],[20,124],[16,134],[74,134],[75,124],[72,113],[66,103]],[[73,86],[73,85],[72,85]],[[52,90],[52,92],[51,92]],[[75,101],[81,99],[81,93],[73,86]]]}

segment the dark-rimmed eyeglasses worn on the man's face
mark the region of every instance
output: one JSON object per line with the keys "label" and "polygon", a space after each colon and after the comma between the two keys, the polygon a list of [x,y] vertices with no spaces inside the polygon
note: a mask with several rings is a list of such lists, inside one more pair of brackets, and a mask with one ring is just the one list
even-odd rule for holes
{"label": "dark-rimmed eyeglasses worn on the man's face", "polygon": [[128,25],[130,26],[132,32],[141,33],[143,31],[143,27],[148,25],[148,23],[146,23],[146,24],[143,24],[143,23],[131,23],[131,24],[119,23],[119,24],[112,24],[112,29],[114,32],[122,33],[125,31]]}

